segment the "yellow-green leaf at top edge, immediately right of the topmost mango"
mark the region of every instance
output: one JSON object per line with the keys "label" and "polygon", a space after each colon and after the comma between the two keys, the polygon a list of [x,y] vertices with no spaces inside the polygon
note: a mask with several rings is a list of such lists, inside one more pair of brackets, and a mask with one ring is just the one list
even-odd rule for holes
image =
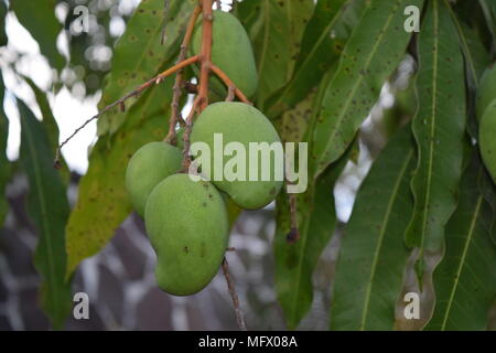
{"label": "yellow-green leaf at top edge, immediately right of the topmost mango", "polygon": [[256,103],[265,100],[291,78],[312,1],[244,1],[238,15],[248,30],[258,67]]}

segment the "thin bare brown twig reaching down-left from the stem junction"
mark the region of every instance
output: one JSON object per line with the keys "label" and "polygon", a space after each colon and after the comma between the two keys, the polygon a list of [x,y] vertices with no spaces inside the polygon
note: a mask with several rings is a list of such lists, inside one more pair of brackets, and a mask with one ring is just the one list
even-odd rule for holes
{"label": "thin bare brown twig reaching down-left from the stem junction", "polygon": [[97,115],[93,116],[91,118],[89,118],[88,120],[86,120],[80,127],[78,127],[76,130],[74,130],[74,132],[66,138],[56,149],[55,151],[55,156],[56,159],[54,161],[54,167],[57,168],[61,163],[60,160],[60,156],[61,156],[61,151],[62,148],[68,142],[71,141],[80,130],[83,130],[89,122],[91,122],[95,119],[98,119],[100,116],[103,116],[105,113],[109,111],[110,109],[115,108],[116,106],[119,106],[121,109],[125,107],[125,101],[131,97],[138,96],[140,93],[142,93],[144,89],[147,89],[148,87],[152,86],[152,85],[158,85],[162,82],[163,78],[176,73],[177,71],[186,67],[187,65],[191,65],[193,63],[196,63],[197,61],[200,61],[200,55],[195,55],[192,57],[186,58],[185,61],[165,69],[164,72],[160,73],[159,75],[157,75],[155,77],[147,81],[144,84],[140,85],[139,87],[134,88],[132,92],[128,93],[126,96],[117,99],[116,101],[109,104],[108,106],[106,106],[104,109],[101,109],[100,111],[98,111]]}

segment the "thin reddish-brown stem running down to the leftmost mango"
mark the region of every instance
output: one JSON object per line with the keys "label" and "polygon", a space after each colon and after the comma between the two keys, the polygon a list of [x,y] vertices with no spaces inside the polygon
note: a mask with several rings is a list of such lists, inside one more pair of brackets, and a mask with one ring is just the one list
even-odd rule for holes
{"label": "thin reddish-brown stem running down to the leftmost mango", "polygon": [[[202,7],[197,6],[195,7],[192,15],[190,17],[190,21],[187,23],[186,33],[184,34],[183,42],[181,43],[181,51],[177,58],[176,64],[183,62],[186,58],[187,54],[187,47],[190,46],[191,38],[193,35],[193,31],[195,29],[196,20],[202,12]],[[172,115],[171,119],[169,120],[169,133],[165,137],[165,142],[174,142],[175,141],[175,126],[177,125],[177,121],[182,120],[181,111],[180,111],[180,100],[181,100],[181,94],[182,94],[182,84],[183,84],[183,71],[177,71],[175,75],[175,82],[174,87],[172,88],[173,95],[172,95],[172,103],[171,103],[171,109]]]}

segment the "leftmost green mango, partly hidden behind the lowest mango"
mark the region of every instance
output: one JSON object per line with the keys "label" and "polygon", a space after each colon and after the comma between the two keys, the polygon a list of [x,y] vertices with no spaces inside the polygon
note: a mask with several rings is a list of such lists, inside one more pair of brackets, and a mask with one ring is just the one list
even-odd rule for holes
{"label": "leftmost green mango, partly hidden behind the lowest mango", "polygon": [[147,143],[132,156],[126,170],[126,189],[140,216],[153,188],[181,170],[182,158],[180,149],[165,142]]}

